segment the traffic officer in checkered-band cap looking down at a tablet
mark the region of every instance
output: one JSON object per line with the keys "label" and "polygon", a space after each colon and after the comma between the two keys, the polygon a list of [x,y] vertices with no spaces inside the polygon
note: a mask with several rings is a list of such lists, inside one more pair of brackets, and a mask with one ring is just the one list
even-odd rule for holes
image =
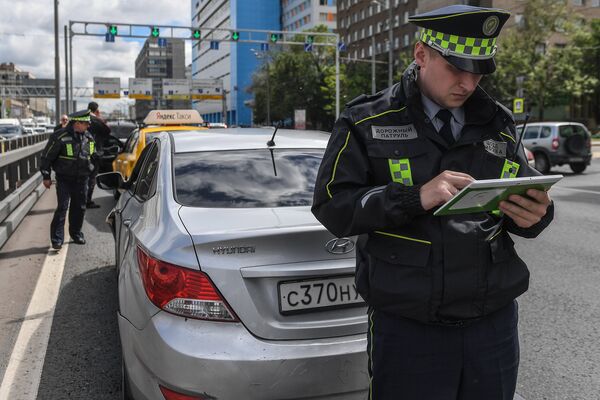
{"label": "traffic officer in checkered-band cap looking down at a tablet", "polygon": [[401,82],[350,102],[325,151],[312,211],[334,235],[359,235],[370,399],[513,398],[529,271],[509,233],[539,235],[550,198],[433,215],[473,179],[538,174],[510,111],[478,86],[508,17],[462,5],[411,17],[420,40]]}

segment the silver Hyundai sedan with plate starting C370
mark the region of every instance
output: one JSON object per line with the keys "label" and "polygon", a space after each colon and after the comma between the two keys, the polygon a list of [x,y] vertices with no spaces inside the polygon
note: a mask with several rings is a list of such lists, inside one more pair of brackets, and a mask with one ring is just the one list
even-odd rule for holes
{"label": "silver Hyundai sedan with plate starting C370", "polygon": [[107,218],[124,393],[133,399],[365,399],[354,238],[312,215],[329,135],[160,132]]}

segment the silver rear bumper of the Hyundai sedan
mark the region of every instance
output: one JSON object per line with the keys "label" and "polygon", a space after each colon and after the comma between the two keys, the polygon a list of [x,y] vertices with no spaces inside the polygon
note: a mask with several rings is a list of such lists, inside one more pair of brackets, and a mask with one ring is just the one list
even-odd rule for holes
{"label": "silver rear bumper of the Hyundai sedan", "polygon": [[119,315],[136,399],[164,400],[158,384],[218,399],[364,399],[366,335],[265,341],[240,323],[159,312],[143,330]]}

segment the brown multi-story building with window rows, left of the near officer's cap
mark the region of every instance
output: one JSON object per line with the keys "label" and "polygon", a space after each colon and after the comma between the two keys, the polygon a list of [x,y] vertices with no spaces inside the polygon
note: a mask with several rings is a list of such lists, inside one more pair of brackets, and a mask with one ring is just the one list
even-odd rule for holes
{"label": "brown multi-story building with window rows, left of the near officer's cap", "polygon": [[374,53],[378,60],[387,62],[389,29],[392,29],[394,68],[406,67],[399,65],[398,52],[414,43],[417,27],[408,23],[408,17],[416,13],[417,3],[417,0],[337,0],[338,32],[340,40],[346,43],[347,57],[370,59]]}

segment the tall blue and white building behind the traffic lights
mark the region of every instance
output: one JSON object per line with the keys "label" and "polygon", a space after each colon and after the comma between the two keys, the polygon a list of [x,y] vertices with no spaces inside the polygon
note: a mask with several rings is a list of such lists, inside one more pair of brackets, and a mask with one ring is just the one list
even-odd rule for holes
{"label": "tall blue and white building behind the traffic lights", "polygon": [[[252,124],[252,95],[247,88],[252,74],[268,54],[259,43],[219,41],[227,39],[227,31],[209,28],[242,30],[240,40],[248,38],[243,29],[281,30],[280,0],[192,0],[192,26],[199,27],[202,40],[192,44],[192,79],[219,79],[226,95],[227,123]],[[253,38],[258,37],[253,35]],[[204,39],[206,38],[206,39]],[[266,35],[265,35],[266,38]],[[211,41],[218,42],[218,49]],[[212,48],[211,48],[212,47]],[[262,57],[262,58],[261,58]],[[223,122],[220,100],[194,101],[204,120]]]}

